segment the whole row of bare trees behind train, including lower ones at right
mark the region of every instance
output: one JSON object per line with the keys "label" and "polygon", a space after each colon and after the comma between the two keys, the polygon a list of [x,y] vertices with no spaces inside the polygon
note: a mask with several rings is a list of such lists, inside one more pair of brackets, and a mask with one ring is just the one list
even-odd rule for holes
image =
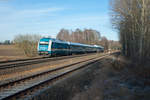
{"label": "whole row of bare trees behind train, including lower ones at right", "polygon": [[90,45],[101,45],[108,50],[109,48],[119,48],[117,41],[110,41],[105,36],[101,36],[100,32],[93,29],[76,29],[75,31],[61,29],[56,36],[59,40],[90,44]]}

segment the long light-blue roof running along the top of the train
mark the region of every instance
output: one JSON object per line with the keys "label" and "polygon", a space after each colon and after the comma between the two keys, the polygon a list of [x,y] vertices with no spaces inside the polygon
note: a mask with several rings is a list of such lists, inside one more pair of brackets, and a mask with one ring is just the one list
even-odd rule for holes
{"label": "long light-blue roof running along the top of the train", "polygon": [[76,46],[87,46],[87,47],[103,48],[102,46],[99,46],[99,45],[87,45],[87,44],[81,44],[81,43],[73,43],[73,42],[67,42],[67,41],[58,40],[58,39],[54,39],[54,38],[45,38],[44,37],[44,38],[40,39],[40,41],[46,41],[46,42],[48,42],[49,40],[52,40],[53,42],[66,43],[66,44],[76,45]]}

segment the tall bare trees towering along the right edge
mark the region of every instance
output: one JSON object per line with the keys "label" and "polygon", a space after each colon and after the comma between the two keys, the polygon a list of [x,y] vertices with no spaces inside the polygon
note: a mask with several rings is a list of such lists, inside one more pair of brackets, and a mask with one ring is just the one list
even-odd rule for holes
{"label": "tall bare trees towering along the right edge", "polygon": [[112,24],[123,54],[141,62],[150,58],[150,0],[111,0]]}

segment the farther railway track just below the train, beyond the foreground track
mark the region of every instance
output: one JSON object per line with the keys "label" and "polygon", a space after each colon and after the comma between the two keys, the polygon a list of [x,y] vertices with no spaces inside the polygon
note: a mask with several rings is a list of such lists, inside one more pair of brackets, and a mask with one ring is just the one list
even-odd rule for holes
{"label": "farther railway track just below the train, beyond the foreground track", "polygon": [[[80,56],[84,56],[84,55],[86,55],[86,54],[53,57],[53,58],[41,57],[41,58],[33,58],[33,59],[12,60],[12,61],[8,61],[8,62],[0,62],[0,70],[1,69],[8,69],[8,68],[15,68],[15,67],[23,67],[26,65],[33,65],[33,64],[44,63],[44,62],[48,62],[48,61],[55,61],[55,60],[61,60],[61,59],[80,57]],[[90,54],[90,55],[92,55],[92,54]]]}

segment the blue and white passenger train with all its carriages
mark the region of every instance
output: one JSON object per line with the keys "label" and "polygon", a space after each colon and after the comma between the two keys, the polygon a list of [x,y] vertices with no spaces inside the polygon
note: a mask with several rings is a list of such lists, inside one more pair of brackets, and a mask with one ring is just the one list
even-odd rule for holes
{"label": "blue and white passenger train with all its carriages", "polygon": [[37,51],[39,55],[61,56],[103,52],[104,47],[43,37],[38,42]]}

